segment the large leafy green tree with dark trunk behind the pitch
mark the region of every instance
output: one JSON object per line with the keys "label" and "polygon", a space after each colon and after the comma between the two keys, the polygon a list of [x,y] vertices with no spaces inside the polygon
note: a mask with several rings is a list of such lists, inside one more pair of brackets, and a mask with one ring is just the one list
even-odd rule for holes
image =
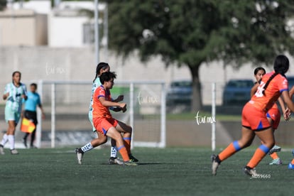
{"label": "large leafy green tree with dark trunk behind the pitch", "polygon": [[293,29],[287,26],[294,10],[290,2],[109,0],[109,48],[124,57],[138,50],[142,61],[160,55],[166,65],[189,67],[191,109],[199,111],[202,62],[268,65],[278,53],[293,53]]}

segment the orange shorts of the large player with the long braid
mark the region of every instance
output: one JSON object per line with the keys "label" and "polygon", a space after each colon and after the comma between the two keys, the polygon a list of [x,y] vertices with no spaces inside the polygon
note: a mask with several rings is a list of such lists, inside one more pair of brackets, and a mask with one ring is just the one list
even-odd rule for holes
{"label": "orange shorts of the large player with the long braid", "polygon": [[266,112],[256,109],[250,102],[247,102],[242,110],[242,126],[251,130],[259,131],[271,127]]}

